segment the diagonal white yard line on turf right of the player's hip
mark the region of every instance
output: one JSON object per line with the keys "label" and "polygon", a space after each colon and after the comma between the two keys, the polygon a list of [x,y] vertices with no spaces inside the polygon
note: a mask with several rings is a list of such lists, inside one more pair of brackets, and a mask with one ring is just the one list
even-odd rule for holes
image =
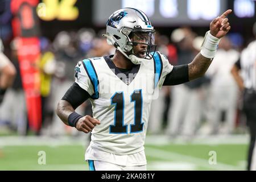
{"label": "diagonal white yard line on turf right of the player's hip", "polygon": [[206,159],[200,159],[200,158],[196,158],[188,155],[177,154],[175,152],[167,152],[167,151],[155,149],[152,147],[145,147],[145,151],[146,151],[146,155],[152,156],[154,158],[162,159],[162,160],[171,159],[174,161],[188,162],[188,163],[196,164],[198,166],[203,166],[205,168],[215,169],[215,170],[224,170],[224,171],[244,170],[241,167],[236,167],[229,164],[218,162],[218,156],[217,156],[217,164],[210,165],[208,160]]}

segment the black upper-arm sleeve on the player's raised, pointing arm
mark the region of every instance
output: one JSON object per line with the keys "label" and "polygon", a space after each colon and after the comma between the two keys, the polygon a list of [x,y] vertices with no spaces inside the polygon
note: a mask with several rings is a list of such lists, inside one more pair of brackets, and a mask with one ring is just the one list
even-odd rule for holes
{"label": "black upper-arm sleeve on the player's raised, pointing arm", "polygon": [[188,64],[183,64],[174,66],[171,73],[166,76],[163,85],[179,85],[188,81]]}

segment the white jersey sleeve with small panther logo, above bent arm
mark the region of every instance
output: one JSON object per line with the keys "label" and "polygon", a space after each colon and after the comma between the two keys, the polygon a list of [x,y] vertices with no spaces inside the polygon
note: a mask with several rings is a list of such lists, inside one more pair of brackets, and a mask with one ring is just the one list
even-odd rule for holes
{"label": "white jersey sleeve with small panther logo, above bent arm", "polygon": [[92,96],[94,94],[93,84],[86,71],[83,61],[79,61],[75,67],[75,82]]}

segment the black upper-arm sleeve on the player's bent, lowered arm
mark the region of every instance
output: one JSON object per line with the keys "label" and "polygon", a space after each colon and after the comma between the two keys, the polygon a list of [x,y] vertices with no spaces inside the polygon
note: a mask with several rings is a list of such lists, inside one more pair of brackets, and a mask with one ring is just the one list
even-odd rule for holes
{"label": "black upper-arm sleeve on the player's bent, lowered arm", "polygon": [[68,89],[61,100],[68,101],[74,109],[82,104],[82,102],[88,100],[90,94],[86,90],[82,89],[76,82]]}

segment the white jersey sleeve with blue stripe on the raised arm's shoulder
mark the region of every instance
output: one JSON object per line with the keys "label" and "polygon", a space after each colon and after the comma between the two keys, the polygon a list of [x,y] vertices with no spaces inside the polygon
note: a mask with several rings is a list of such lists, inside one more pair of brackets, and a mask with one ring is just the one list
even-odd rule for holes
{"label": "white jersey sleeve with blue stripe on the raised arm's shoulder", "polygon": [[154,54],[154,70],[155,70],[155,78],[154,78],[154,85],[162,88],[164,79],[171,73],[172,69],[174,68],[171,65],[165,55],[163,53],[156,51]]}

